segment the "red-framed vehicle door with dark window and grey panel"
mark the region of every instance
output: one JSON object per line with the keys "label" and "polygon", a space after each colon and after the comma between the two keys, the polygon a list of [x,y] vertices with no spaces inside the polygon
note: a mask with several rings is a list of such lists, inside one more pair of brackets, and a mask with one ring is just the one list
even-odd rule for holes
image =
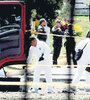
{"label": "red-framed vehicle door with dark window and grey panel", "polygon": [[0,68],[25,63],[24,35],[24,1],[0,0]]}

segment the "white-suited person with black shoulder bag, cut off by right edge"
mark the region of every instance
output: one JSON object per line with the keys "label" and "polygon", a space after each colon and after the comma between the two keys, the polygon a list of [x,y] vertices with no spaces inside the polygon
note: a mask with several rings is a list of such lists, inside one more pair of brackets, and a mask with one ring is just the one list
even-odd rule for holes
{"label": "white-suited person with black shoulder bag, cut off by right edge", "polygon": [[[81,58],[77,61],[78,65],[90,64],[90,31],[87,34],[87,38],[80,41],[80,43],[76,47],[76,51],[78,49],[82,49],[85,45],[86,45],[86,47],[83,50],[83,54],[82,54]],[[89,70],[87,70],[87,69],[89,69]],[[86,83],[90,84],[90,67],[86,68],[85,66],[77,67],[77,72],[76,72],[75,77],[72,81],[73,84],[77,84],[80,82],[80,79],[81,79],[84,71],[85,71],[85,76],[86,76]],[[75,86],[73,86],[72,88],[73,88],[73,90],[76,91]]]}

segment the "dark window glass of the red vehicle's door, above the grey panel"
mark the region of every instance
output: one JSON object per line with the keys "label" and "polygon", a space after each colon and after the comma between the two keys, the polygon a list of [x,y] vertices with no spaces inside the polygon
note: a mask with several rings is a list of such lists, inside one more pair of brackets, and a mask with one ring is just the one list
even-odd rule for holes
{"label": "dark window glass of the red vehicle's door, above the grey panel", "polygon": [[0,5],[0,33],[21,27],[21,6]]}

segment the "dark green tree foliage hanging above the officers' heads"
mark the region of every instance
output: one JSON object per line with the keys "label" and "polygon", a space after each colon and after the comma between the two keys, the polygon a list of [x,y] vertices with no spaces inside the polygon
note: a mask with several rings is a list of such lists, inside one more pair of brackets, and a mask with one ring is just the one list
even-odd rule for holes
{"label": "dark green tree foliage hanging above the officers' heads", "polygon": [[55,11],[62,8],[63,0],[27,0],[26,4],[29,17],[31,17],[31,10],[36,9],[36,17],[38,17],[38,15],[42,16],[48,21],[50,26],[53,19],[56,18]]}

